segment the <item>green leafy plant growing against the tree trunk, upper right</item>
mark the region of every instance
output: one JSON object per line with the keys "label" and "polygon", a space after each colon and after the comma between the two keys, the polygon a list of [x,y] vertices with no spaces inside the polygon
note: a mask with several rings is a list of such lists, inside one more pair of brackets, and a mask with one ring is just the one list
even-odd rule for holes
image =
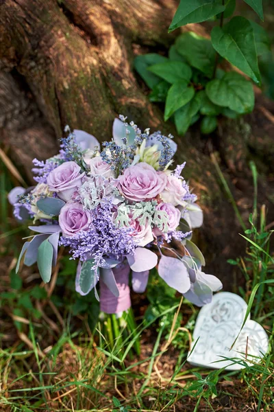
{"label": "green leafy plant growing against the tree trunk, upper right", "polygon": [[[263,20],[262,0],[245,0]],[[201,133],[212,133],[218,116],[232,119],[251,113],[253,82],[260,85],[258,56],[269,50],[264,29],[233,16],[236,0],[181,0],[169,31],[188,23],[219,21],[211,38],[186,32],[169,49],[169,58],[151,53],[137,56],[136,71],[152,90],[151,102],[165,102],[164,120],[172,119],[179,135],[201,118]],[[225,19],[229,19],[225,21]],[[236,71],[223,71],[227,60]]]}

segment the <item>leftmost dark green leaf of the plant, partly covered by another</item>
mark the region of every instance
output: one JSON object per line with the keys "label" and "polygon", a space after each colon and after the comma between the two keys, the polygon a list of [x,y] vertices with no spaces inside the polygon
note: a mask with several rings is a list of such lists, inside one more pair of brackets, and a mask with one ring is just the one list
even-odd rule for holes
{"label": "leftmost dark green leaf of the plant, partly covered by another", "polygon": [[140,74],[142,80],[147,83],[148,87],[150,87],[150,89],[153,89],[156,84],[160,83],[161,79],[158,76],[155,76],[155,74],[150,73],[147,70],[147,67],[166,61],[168,61],[168,58],[160,56],[160,54],[143,54],[141,56],[136,56],[136,58],[134,59],[134,68],[136,69],[138,74]]}

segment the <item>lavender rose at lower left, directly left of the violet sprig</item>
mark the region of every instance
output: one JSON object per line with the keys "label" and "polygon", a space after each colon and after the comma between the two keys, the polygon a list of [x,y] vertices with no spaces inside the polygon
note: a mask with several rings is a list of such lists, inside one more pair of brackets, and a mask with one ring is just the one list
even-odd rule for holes
{"label": "lavender rose at lower left, directly left of the violet sprig", "polygon": [[59,225],[63,235],[73,236],[79,231],[88,230],[91,223],[90,211],[84,210],[81,203],[66,203],[60,211]]}

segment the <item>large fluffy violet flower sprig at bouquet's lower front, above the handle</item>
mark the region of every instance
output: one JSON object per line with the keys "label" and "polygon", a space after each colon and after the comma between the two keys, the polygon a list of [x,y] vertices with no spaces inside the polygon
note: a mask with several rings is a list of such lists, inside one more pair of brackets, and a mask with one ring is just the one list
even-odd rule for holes
{"label": "large fluffy violet flower sprig at bouquet's lower front, above the handle", "polygon": [[75,236],[60,238],[60,245],[70,247],[73,259],[85,261],[92,256],[98,267],[105,262],[106,257],[119,260],[134,253],[136,244],[131,236],[132,229],[116,227],[112,220],[112,208],[112,201],[102,201],[91,213],[91,229],[79,231]]}

